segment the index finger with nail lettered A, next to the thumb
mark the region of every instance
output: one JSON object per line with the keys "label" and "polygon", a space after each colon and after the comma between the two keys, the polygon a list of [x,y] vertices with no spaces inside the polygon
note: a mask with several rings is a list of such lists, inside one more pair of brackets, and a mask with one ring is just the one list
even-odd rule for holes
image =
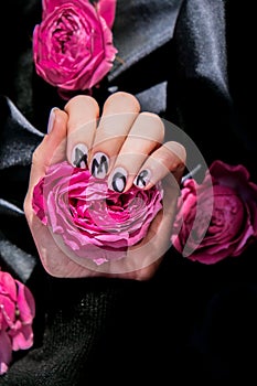
{"label": "index finger with nail lettered A, next to the thumb", "polygon": [[68,114],[67,160],[74,167],[87,168],[99,106],[94,98],[79,95],[72,98],[64,109]]}

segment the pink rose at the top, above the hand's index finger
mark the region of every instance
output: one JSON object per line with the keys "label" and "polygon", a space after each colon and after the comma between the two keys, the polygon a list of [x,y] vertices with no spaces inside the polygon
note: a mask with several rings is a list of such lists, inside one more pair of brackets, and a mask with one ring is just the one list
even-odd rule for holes
{"label": "pink rose at the top, above the hand's index finger", "polygon": [[38,75],[61,96],[90,89],[109,72],[117,50],[111,26],[116,0],[43,0],[41,24],[33,32]]}

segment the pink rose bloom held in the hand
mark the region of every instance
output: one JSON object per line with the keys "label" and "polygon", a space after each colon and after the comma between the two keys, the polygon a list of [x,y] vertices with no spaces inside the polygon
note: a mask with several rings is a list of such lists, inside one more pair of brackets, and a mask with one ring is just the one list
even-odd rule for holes
{"label": "pink rose bloom held in the hand", "polygon": [[108,189],[86,169],[63,161],[49,168],[35,185],[33,210],[53,235],[79,258],[97,265],[126,257],[162,208],[160,184],[149,190],[131,186],[125,193]]}

